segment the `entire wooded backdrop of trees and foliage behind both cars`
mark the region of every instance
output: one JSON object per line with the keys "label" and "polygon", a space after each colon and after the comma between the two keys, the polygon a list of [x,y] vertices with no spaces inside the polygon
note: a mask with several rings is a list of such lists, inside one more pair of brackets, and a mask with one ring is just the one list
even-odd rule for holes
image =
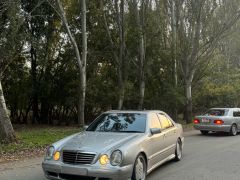
{"label": "entire wooded backdrop of trees and foliage behind both cars", "polygon": [[13,126],[83,127],[110,109],[191,124],[240,106],[239,19],[239,0],[0,1],[0,142],[44,146]]}

